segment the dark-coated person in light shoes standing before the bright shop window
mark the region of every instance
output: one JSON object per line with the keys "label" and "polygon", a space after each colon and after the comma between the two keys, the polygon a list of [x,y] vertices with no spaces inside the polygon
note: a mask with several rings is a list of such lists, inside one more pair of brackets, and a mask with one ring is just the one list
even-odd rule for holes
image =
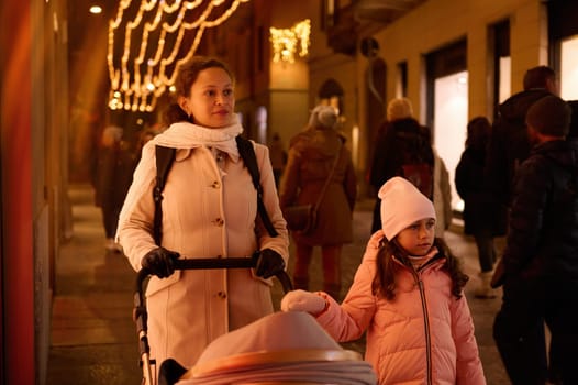
{"label": "dark-coated person in light shoes standing before the bright shop window", "polygon": [[497,232],[491,201],[483,185],[483,167],[491,124],[486,117],[471,119],[467,127],[466,148],[455,173],[456,190],[464,199],[464,232],[474,235],[478,249],[481,284],[476,288],[478,298],[493,298],[496,290],[490,286],[493,264],[497,261],[493,238]]}

